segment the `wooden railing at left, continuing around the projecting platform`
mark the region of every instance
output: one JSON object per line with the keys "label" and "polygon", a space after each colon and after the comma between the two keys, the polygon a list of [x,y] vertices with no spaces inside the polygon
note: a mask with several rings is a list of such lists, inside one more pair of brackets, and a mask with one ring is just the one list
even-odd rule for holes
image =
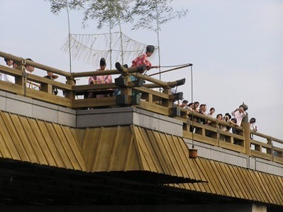
{"label": "wooden railing at left, continuing around the projecting platform", "polygon": [[[10,76],[15,77],[14,84],[1,81],[0,90],[75,109],[137,106],[145,108],[148,111],[170,116],[173,101],[178,98],[177,95],[181,95],[171,94],[170,89],[177,85],[184,84],[184,79],[176,82],[162,82],[158,79],[139,74],[138,71],[145,67],[136,67],[132,69],[125,69],[122,67],[120,70],[70,73],[46,65],[41,65],[37,62],[23,59],[22,57],[16,57],[5,52],[0,52],[0,57],[13,60],[18,64],[16,69],[0,65],[0,74],[9,74]],[[65,83],[30,74],[26,72],[26,65],[35,67],[44,75],[47,75],[47,71],[53,72],[60,77],[59,79],[65,79]],[[119,74],[121,77],[118,77],[117,80],[115,80],[115,83],[110,84],[76,85],[76,80],[79,77],[109,74]],[[131,79],[131,75],[133,74],[135,74],[135,78],[137,79],[135,81]],[[144,82],[149,84],[145,84]],[[38,89],[28,88],[26,86],[28,83],[36,84]],[[152,90],[152,88],[157,87],[161,87],[162,92]],[[63,95],[56,96],[52,94],[52,89],[61,90]],[[119,91],[119,94],[114,95],[116,91]],[[105,94],[105,97],[88,98],[89,92],[96,95]],[[79,95],[84,96],[84,98],[77,98]]]}

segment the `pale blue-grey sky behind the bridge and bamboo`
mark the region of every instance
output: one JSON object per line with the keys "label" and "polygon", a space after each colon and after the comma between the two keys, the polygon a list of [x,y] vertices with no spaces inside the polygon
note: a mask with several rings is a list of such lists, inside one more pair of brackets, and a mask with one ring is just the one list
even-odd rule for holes
{"label": "pale blue-grey sky behind the bridge and bamboo", "polygon": [[[283,140],[283,1],[174,0],[170,5],[189,12],[160,26],[160,65],[192,63],[193,79],[186,68],[162,74],[162,80],[186,78],[177,91],[189,102],[206,104],[208,111],[216,108],[215,116],[245,102],[259,132]],[[66,11],[56,16],[43,0],[0,0],[0,17],[1,52],[70,71],[69,55],[62,50],[68,38]],[[70,11],[71,33],[109,32],[107,27],[98,30],[93,20],[83,28],[82,18],[82,11]],[[131,30],[126,24],[122,30],[140,43],[157,45],[157,34],[151,30]],[[150,60],[158,65],[158,57]],[[97,68],[72,60],[72,72]],[[152,72],[156,71],[148,74]],[[40,70],[35,74],[45,75]]]}

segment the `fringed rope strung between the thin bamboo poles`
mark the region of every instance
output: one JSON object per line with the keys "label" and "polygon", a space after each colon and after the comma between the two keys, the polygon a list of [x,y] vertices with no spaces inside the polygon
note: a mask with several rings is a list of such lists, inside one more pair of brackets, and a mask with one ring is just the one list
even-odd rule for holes
{"label": "fringed rope strung between the thin bamboo poles", "polygon": [[[97,66],[101,57],[104,57],[108,64],[111,64],[111,61],[122,62],[122,54],[123,62],[131,63],[134,58],[145,52],[146,46],[147,44],[139,43],[121,32],[70,34],[70,40],[66,40],[62,50],[68,52],[71,49],[73,59],[84,60]],[[155,48],[158,49],[158,47]]]}

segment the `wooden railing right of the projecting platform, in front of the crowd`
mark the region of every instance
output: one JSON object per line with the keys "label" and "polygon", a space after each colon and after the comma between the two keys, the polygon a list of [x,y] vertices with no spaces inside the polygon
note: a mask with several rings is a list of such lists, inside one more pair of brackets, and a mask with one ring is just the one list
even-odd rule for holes
{"label": "wooden railing right of the projecting platform, in front of the crowd", "polygon": [[[183,121],[185,138],[283,164],[283,140],[250,131],[249,123],[242,122],[243,127],[235,126],[184,108],[179,110],[181,115],[178,119]],[[199,119],[210,121],[211,124],[199,123]],[[221,126],[235,128],[239,133],[223,130]]]}

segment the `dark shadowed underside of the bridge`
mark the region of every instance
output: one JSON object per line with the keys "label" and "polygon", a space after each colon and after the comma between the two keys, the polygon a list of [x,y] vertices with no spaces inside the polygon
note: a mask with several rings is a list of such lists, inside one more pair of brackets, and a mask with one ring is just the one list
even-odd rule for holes
{"label": "dark shadowed underside of the bridge", "polygon": [[[141,172],[132,173],[139,179]],[[0,204],[120,205],[244,203],[241,199],[177,189],[164,184],[27,162],[0,162]],[[115,174],[116,175],[116,174]]]}

